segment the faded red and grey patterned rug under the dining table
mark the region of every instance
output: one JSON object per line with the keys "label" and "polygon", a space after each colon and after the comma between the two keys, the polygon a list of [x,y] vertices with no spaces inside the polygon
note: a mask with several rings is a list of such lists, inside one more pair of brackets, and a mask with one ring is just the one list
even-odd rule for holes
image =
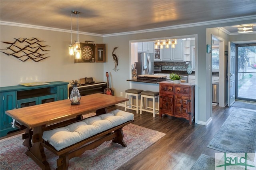
{"label": "faded red and grey patterned rug under the dining table", "polygon": [[[134,124],[123,128],[127,147],[113,142],[104,142],[93,150],[87,150],[80,157],[70,160],[69,170],[114,170],[150,147],[165,134]],[[0,140],[1,170],[40,170],[41,168],[25,152],[22,134]],[[56,169],[57,156],[44,149],[51,169]]]}

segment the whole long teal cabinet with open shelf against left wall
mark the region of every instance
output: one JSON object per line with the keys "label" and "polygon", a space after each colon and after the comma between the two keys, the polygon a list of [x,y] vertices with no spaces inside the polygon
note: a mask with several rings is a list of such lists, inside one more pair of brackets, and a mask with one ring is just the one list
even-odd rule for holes
{"label": "whole long teal cabinet with open shelf against left wall", "polygon": [[21,107],[40,105],[57,100],[68,99],[68,82],[54,81],[47,85],[38,86],[9,86],[0,87],[0,136],[17,130],[12,127],[12,118],[5,111]]}

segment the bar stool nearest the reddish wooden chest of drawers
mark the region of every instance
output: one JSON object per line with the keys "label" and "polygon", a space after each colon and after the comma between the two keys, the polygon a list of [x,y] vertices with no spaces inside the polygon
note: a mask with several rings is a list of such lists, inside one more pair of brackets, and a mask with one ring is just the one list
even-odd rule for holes
{"label": "bar stool nearest the reddish wooden chest of drawers", "polygon": [[[141,97],[140,97],[140,114],[142,114],[142,111],[146,111],[146,112],[150,112],[153,113],[153,117],[156,117],[156,111],[159,111],[159,92],[155,92],[155,91],[142,91],[141,92]],[[146,105],[142,103],[142,101],[144,102],[144,98],[146,98]],[[148,107],[148,99],[152,99],[153,103],[153,107]],[[156,99],[158,102],[158,109],[156,109]],[[148,110],[148,109],[152,109]]]}

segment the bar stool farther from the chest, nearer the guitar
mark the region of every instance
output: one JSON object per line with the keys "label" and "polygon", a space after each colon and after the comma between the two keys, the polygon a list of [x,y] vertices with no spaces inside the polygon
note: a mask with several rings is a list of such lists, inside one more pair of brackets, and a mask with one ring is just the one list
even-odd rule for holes
{"label": "bar stool farther from the chest, nearer the guitar", "polygon": [[[124,107],[124,111],[126,111],[127,109],[132,109],[134,111],[136,111],[136,113],[139,113],[139,102],[138,102],[138,98],[140,96],[140,93],[143,90],[138,90],[138,89],[128,89],[125,91],[125,98],[127,98],[127,96],[129,95],[129,100],[130,100],[130,104],[127,105],[127,101],[125,102],[125,107]],[[133,104],[133,96],[136,97],[136,105]],[[135,108],[134,108],[135,107]]]}

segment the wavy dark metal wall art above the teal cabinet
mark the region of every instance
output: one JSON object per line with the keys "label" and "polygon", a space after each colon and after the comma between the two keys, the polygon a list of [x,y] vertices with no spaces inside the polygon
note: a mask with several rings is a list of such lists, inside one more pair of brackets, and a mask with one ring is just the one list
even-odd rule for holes
{"label": "wavy dark metal wall art above the teal cabinet", "polygon": [[2,53],[6,55],[12,55],[19,59],[20,61],[27,61],[28,59],[32,59],[35,62],[46,59],[50,56],[46,56],[48,53],[45,53],[47,47],[49,45],[43,45],[43,42],[38,40],[38,38],[14,38],[15,41],[13,43],[10,42],[2,42],[9,44],[9,47],[1,49]]}

